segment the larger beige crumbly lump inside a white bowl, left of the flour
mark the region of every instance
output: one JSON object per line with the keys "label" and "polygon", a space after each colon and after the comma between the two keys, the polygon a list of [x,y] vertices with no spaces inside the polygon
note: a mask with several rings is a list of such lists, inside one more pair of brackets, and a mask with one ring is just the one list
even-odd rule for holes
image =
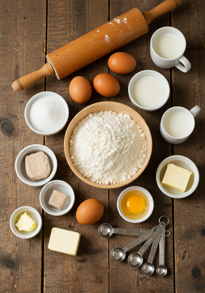
{"label": "larger beige crumbly lump inside a white bowl, left of the flour", "polygon": [[51,173],[51,167],[47,154],[39,151],[25,157],[26,174],[33,180],[47,178]]}

